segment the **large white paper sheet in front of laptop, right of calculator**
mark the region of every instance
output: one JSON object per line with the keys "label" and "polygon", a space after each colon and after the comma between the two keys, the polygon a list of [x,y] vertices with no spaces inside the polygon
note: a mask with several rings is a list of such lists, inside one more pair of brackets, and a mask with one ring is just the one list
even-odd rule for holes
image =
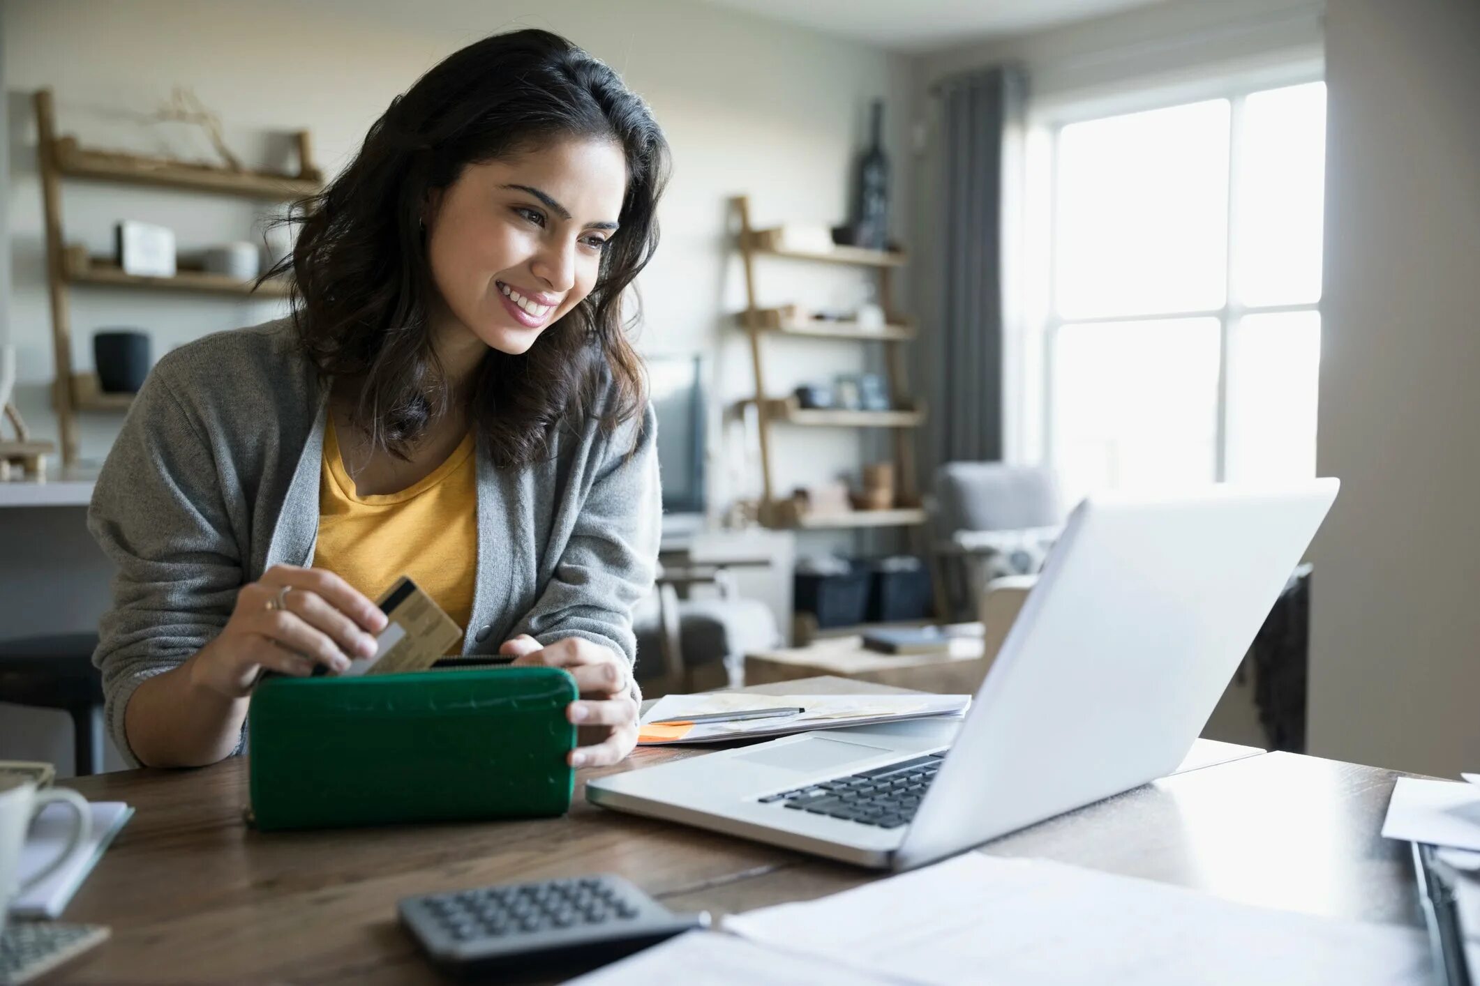
{"label": "large white paper sheet in front of laptop, right of calculator", "polygon": [[758,945],[915,983],[1427,983],[1415,928],[1231,903],[1063,863],[966,853],[725,918]]}

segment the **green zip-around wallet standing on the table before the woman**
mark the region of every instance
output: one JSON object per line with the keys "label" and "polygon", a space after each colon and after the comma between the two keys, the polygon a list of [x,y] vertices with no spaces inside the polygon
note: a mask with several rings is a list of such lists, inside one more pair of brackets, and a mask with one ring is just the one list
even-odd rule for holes
{"label": "green zip-around wallet standing on the table before the woman", "polygon": [[539,817],[570,809],[562,668],[269,677],[247,711],[259,829]]}

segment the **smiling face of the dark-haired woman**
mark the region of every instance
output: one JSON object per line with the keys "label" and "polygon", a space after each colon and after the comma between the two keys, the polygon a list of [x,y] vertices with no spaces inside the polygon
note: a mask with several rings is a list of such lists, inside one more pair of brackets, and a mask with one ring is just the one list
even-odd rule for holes
{"label": "smiling face of the dark-haired woman", "polygon": [[434,194],[428,260],[435,344],[454,373],[488,347],[521,355],[596,284],[628,185],[620,145],[559,139],[469,164]]}

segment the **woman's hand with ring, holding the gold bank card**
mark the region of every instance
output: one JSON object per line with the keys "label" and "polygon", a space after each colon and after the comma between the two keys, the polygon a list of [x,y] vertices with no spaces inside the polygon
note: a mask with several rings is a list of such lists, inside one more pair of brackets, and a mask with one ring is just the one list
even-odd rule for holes
{"label": "woman's hand with ring, holding the gold bank card", "polygon": [[315,664],[343,671],[349,658],[374,653],[371,634],[385,624],[385,613],[333,572],[274,565],[237,594],[221,636],[191,659],[191,681],[243,698],[263,668],[295,677],[311,674]]}

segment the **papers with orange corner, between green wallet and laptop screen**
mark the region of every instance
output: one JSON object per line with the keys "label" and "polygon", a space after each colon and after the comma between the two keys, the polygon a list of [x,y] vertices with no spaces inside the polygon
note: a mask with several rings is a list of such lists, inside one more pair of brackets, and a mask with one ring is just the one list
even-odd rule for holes
{"label": "papers with orange corner, between green wallet and laptop screen", "polygon": [[[811,729],[872,726],[926,715],[962,715],[971,705],[969,695],[755,695],[749,692],[710,692],[704,695],[665,695],[639,720],[638,742],[713,744],[753,736],[786,736]],[[802,708],[804,713],[743,718],[728,723],[693,723],[688,715],[749,713]]]}

